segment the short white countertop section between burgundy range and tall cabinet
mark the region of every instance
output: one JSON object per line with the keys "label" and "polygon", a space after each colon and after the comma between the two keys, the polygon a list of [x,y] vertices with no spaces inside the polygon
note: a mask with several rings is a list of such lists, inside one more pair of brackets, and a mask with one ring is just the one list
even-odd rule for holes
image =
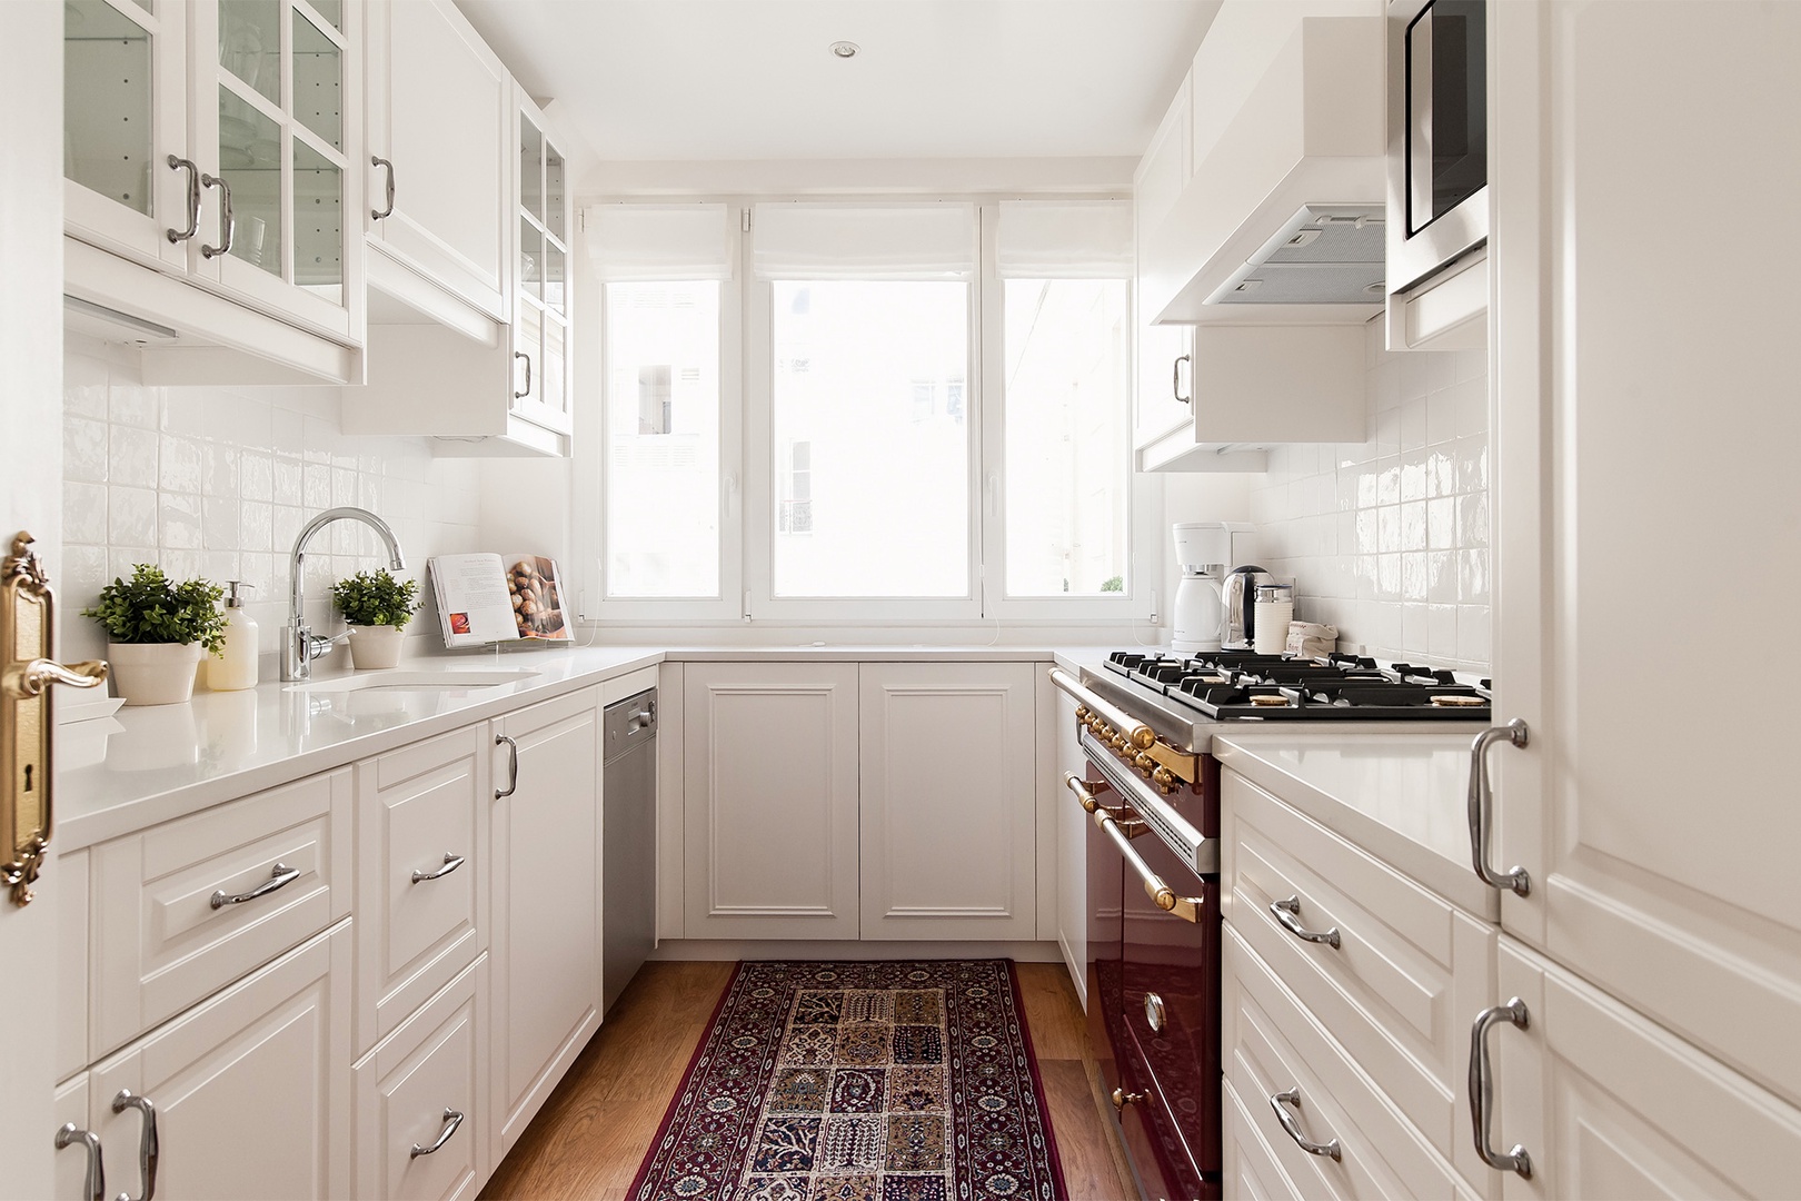
{"label": "short white countertop section between burgundy range and tall cabinet", "polygon": [[1471,870],[1470,731],[1232,731],[1214,736],[1235,771],[1471,913],[1500,900]]}

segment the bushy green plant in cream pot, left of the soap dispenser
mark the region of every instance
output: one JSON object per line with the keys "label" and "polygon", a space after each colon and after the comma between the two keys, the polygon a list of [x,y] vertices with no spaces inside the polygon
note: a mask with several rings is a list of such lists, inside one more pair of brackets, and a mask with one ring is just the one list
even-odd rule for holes
{"label": "bushy green plant in cream pot, left of the soap dispenser", "polygon": [[223,648],[223,594],[211,580],[175,583],[137,564],[130,580],[115,578],[94,609],[81,610],[106,630],[106,661],[126,704],[184,704],[195,695],[200,652]]}

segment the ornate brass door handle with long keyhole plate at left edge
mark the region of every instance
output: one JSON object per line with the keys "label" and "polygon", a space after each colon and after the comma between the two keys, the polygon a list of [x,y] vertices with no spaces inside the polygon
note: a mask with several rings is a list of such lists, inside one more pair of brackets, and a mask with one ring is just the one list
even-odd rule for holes
{"label": "ornate brass door handle with long keyhole plate at left edge", "polygon": [[68,666],[54,661],[54,636],[50,578],[31,535],[20,531],[0,562],[0,886],[13,889],[16,906],[31,904],[50,844],[50,686],[106,682],[99,659]]}

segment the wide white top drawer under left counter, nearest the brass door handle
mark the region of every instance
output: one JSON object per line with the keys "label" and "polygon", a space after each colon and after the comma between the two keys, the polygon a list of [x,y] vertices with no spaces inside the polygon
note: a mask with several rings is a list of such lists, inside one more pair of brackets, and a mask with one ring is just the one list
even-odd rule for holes
{"label": "wide white top drawer under left counter, nearest the brass door handle", "polygon": [[[101,843],[88,1052],[104,1055],[349,913],[349,769]],[[276,866],[295,875],[276,875]],[[213,908],[213,895],[261,897]]]}

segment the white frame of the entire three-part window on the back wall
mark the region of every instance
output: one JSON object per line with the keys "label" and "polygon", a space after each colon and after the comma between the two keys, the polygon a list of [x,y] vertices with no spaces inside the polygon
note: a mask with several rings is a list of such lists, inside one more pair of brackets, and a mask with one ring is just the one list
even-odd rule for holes
{"label": "white frame of the entire three-part window on the back wall", "polygon": [[[1124,196],[1030,194],[1005,200],[1099,200]],[[1007,596],[1005,513],[1005,322],[996,229],[1003,196],[935,194],[931,200],[976,203],[978,270],[969,284],[969,369],[964,376],[964,414],[969,429],[969,592],[955,598],[778,598],[773,596],[776,501],[780,497],[782,447],[773,438],[773,284],[755,279],[751,236],[746,216],[756,203],[789,200],[884,203],[920,196],[683,196],[683,202],[726,203],[738,214],[733,279],[719,292],[719,594],[711,598],[621,598],[605,596],[605,531],[609,522],[603,470],[607,461],[605,380],[607,312],[605,286],[598,281],[585,248],[571,256],[576,290],[576,322],[582,346],[593,353],[576,358],[576,387],[591,403],[576,405],[573,499],[576,513],[600,520],[575,520],[571,551],[582,565],[575,578],[582,589],[582,616],[589,621],[630,627],[719,627],[762,623],[771,627],[980,627],[1005,621],[1012,627],[1111,627],[1149,623],[1162,609],[1163,583],[1162,481],[1136,472],[1133,438],[1122,439],[1126,481],[1131,488],[1127,537],[1127,589],[1099,596]],[[585,239],[585,238],[584,238]],[[1046,274],[1046,277],[1055,277]],[[1127,281],[1127,321],[1133,331],[1131,378],[1122,396],[1122,421],[1135,421],[1138,393],[1138,295]],[[994,331],[992,340],[985,339]]]}

